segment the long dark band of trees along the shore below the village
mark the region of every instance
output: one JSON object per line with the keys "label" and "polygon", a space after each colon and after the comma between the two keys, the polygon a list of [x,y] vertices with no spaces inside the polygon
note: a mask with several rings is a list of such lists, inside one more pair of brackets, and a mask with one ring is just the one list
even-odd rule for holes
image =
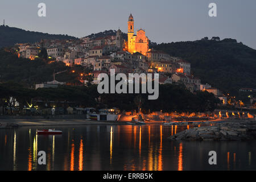
{"label": "long dark band of trees along the shore below the village", "polygon": [[75,106],[136,110],[136,97],[141,97],[141,108],[144,113],[150,111],[213,111],[220,102],[208,92],[192,94],[181,85],[159,85],[158,100],[148,100],[147,94],[99,94],[97,85],[91,86],[59,86],[58,88],[27,89],[14,82],[0,84],[0,106],[7,104],[10,97],[16,98],[22,105],[31,100],[45,103],[75,102]]}

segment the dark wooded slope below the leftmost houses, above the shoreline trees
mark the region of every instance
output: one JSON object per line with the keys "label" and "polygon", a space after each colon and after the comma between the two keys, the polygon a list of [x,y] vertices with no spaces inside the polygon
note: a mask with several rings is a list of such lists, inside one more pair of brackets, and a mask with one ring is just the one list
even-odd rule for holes
{"label": "dark wooded slope below the leftmost houses, above the shoreline trees", "polygon": [[[42,55],[43,56],[43,55]],[[26,86],[34,86],[42,82],[52,81],[53,72],[67,72],[56,75],[60,82],[76,82],[79,74],[72,73],[70,67],[63,62],[48,63],[44,59],[22,59],[17,55],[0,49],[0,82],[15,81]],[[81,68],[80,68],[81,69]]]}

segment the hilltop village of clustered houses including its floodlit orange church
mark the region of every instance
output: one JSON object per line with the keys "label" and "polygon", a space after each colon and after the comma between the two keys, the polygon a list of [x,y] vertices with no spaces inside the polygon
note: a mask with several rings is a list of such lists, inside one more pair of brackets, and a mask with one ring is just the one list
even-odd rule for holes
{"label": "hilltop village of clustered houses including its floodlit orange church", "polygon": [[[173,57],[167,53],[149,48],[149,39],[142,28],[134,32],[135,21],[130,14],[127,22],[127,40],[123,38],[121,30],[116,35],[77,40],[42,40],[30,44],[16,44],[15,49],[19,57],[35,60],[44,48],[48,59],[63,61],[68,67],[81,65],[88,68],[92,80],[81,77],[80,82],[98,84],[100,73],[160,73],[159,84],[184,84],[191,92],[207,90],[226,103],[226,97],[220,90],[208,84],[202,84],[200,78],[191,74],[191,63],[180,57]],[[84,74],[81,74],[84,76]],[[46,83],[38,83],[35,88],[56,87],[55,79]]]}

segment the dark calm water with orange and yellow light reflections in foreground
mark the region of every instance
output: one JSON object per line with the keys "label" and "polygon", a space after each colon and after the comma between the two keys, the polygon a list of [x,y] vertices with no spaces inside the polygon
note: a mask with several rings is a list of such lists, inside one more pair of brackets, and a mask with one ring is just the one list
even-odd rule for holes
{"label": "dark calm water with orange and yellow light reflections in foreground", "polygon": [[[36,129],[44,128],[0,130],[0,170],[256,169],[256,142],[167,139],[187,129],[182,126],[60,126],[54,128],[62,135],[36,135]],[[212,150],[216,166],[208,163]],[[37,163],[39,151],[46,151],[46,165]]]}

